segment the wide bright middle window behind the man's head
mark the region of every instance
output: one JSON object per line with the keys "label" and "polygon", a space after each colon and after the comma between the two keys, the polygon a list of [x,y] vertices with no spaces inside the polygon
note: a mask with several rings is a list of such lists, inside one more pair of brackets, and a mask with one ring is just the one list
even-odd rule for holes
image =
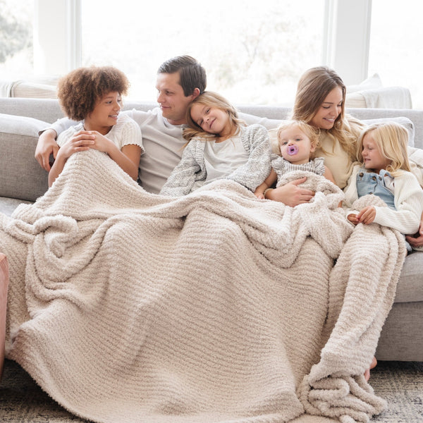
{"label": "wide bright middle window behind the man's head", "polygon": [[208,90],[236,104],[291,104],[300,75],[321,63],[325,0],[119,6],[82,1],[82,64],[120,68],[137,99],[154,101],[157,68],[180,54],[206,68]]}

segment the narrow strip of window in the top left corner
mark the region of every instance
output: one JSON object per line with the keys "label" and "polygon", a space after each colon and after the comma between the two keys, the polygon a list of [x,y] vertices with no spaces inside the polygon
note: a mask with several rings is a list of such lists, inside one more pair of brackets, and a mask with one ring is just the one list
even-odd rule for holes
{"label": "narrow strip of window in the top left corner", "polygon": [[0,73],[2,79],[32,75],[33,0],[0,0]]}

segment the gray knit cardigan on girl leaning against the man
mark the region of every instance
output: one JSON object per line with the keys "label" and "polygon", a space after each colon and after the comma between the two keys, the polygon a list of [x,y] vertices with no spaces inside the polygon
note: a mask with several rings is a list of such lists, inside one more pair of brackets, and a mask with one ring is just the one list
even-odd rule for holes
{"label": "gray knit cardigan on girl leaning against the man", "polygon": [[[240,128],[240,139],[245,151],[250,154],[245,164],[237,168],[225,179],[235,180],[254,191],[269,175],[271,146],[269,133],[262,125],[254,124]],[[182,159],[161,188],[162,195],[187,195],[197,180],[207,177],[204,161],[204,145],[208,140],[195,137],[185,147]]]}

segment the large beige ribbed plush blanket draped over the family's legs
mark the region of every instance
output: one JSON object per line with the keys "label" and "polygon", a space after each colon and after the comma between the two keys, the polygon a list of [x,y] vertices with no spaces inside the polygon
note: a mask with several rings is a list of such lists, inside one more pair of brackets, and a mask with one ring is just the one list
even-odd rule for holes
{"label": "large beige ribbed plush blanket draped over the family's legs", "polygon": [[73,154],[0,215],[6,356],[94,422],[368,422],[385,404],[362,374],[405,245],[353,228],[313,181],[295,208],[228,180],[162,197]]}

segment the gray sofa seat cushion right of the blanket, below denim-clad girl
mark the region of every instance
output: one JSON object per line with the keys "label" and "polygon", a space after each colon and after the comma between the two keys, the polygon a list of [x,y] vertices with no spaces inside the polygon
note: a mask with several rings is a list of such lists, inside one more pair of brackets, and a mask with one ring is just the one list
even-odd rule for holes
{"label": "gray sofa seat cushion right of the blanket, below denim-clad girl", "polygon": [[423,252],[414,251],[405,257],[395,302],[423,301]]}

